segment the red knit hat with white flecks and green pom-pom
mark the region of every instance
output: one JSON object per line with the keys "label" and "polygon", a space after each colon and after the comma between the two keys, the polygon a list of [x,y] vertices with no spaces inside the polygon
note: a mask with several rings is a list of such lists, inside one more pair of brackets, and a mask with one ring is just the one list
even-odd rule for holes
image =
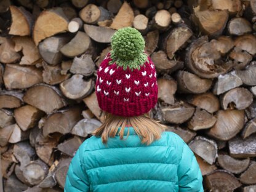
{"label": "red knit hat with white flecks and green pom-pom", "polygon": [[98,105],[116,116],[147,113],[158,100],[158,84],[154,63],[144,52],[142,34],[122,28],[112,36],[111,48],[97,70]]}

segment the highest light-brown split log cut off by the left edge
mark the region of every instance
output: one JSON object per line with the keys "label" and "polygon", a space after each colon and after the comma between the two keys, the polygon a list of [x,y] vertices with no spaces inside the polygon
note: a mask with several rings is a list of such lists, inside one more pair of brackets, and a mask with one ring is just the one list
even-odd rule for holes
{"label": "highest light-brown split log cut off by the left edge", "polygon": [[16,52],[15,43],[12,39],[0,37],[0,62],[14,63],[20,60],[20,53]]}

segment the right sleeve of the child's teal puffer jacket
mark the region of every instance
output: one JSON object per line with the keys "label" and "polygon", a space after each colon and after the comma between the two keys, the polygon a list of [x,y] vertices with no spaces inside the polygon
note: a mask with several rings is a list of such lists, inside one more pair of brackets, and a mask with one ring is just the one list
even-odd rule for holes
{"label": "right sleeve of the child's teal puffer jacket", "polygon": [[[182,138],[180,138],[182,139]],[[179,191],[203,192],[202,174],[193,151],[182,140],[182,156],[178,164]]]}

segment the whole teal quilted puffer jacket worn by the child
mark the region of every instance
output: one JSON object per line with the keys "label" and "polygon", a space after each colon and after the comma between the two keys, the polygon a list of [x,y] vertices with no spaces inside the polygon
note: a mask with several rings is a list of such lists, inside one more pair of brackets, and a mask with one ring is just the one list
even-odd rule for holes
{"label": "whole teal quilted puffer jacket worn by the child", "polygon": [[79,146],[66,175],[65,192],[74,191],[204,190],[198,162],[181,137],[162,132],[161,139],[146,146],[130,127],[126,140],[116,134],[105,146],[92,136]]}

